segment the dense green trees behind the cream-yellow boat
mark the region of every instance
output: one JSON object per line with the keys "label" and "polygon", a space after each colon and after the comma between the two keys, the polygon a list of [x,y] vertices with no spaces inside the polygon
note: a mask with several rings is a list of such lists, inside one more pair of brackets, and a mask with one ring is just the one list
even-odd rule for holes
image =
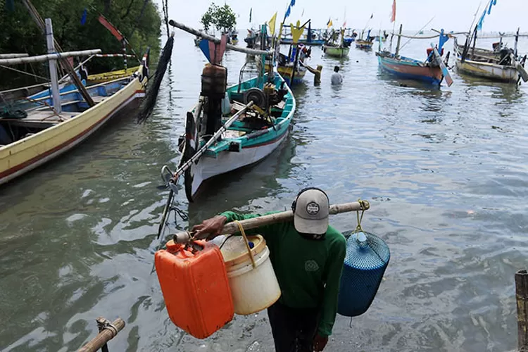
{"label": "dense green trees behind the cream-yellow boat", "polygon": [[[64,51],[101,49],[105,54],[122,53],[122,44],[99,23],[103,13],[128,39],[138,56],[151,47],[151,62],[156,62],[160,51],[161,18],[158,8],[150,0],[38,0],[32,1],[42,18],[51,18],[54,36]],[[15,10],[8,11],[6,1],[0,0],[0,53],[46,53],[46,40],[32,20],[22,1],[15,1]],[[84,8],[87,20],[81,25]],[[107,10],[107,11],[106,11]],[[143,10],[143,13],[142,13]],[[132,54],[130,49],[128,54]],[[88,64],[89,73],[122,69],[122,58],[93,58]],[[128,59],[128,66],[138,65],[134,58]],[[32,64],[17,67],[20,70],[48,76],[46,64]],[[15,77],[11,71],[0,68],[4,77]],[[20,76],[17,74],[17,76]],[[29,84],[29,83],[28,83]]]}

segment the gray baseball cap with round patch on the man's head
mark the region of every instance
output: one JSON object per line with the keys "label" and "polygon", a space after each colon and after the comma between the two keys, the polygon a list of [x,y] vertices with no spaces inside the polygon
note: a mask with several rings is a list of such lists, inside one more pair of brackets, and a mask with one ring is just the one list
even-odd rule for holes
{"label": "gray baseball cap with round patch on the man's head", "polygon": [[294,211],[295,230],[303,234],[325,234],[330,205],[325,192],[308,189],[298,195]]}

